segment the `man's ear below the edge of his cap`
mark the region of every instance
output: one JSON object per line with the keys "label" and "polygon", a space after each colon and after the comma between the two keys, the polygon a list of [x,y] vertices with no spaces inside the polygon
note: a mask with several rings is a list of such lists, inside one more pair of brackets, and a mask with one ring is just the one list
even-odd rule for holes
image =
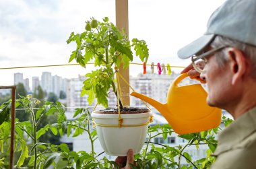
{"label": "man's ear below the edge of his cap", "polygon": [[232,85],[234,85],[245,74],[247,64],[244,53],[237,48],[228,50],[228,56],[230,59],[230,71],[232,71]]}

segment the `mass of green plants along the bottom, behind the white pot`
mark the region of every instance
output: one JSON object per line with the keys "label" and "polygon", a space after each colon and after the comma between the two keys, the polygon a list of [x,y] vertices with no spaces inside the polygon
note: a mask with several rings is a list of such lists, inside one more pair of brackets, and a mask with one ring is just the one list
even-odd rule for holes
{"label": "mass of green plants along the bottom, behind the white pot", "polygon": [[[11,103],[5,102],[0,106],[2,112],[9,112],[8,106]],[[45,102],[42,108],[33,112],[33,107],[40,102],[31,96],[22,97],[16,100],[16,104],[22,105],[26,112],[30,112],[32,121],[15,121],[15,154],[18,158],[15,161],[16,168],[119,168],[117,163],[100,158],[100,154],[94,152],[94,141],[98,139],[96,130],[91,129],[91,118],[88,108],[77,108],[74,112],[74,121],[67,121],[65,117],[65,107],[57,102]],[[55,114],[56,123],[40,125],[42,119],[46,116]],[[223,124],[230,124],[231,119],[222,118]],[[174,135],[174,131],[170,125],[154,125],[148,129],[148,141],[143,147],[140,154],[135,154],[134,164],[129,164],[131,168],[179,168],[191,169],[210,168],[215,158],[214,153],[218,141],[216,133],[220,127],[203,131],[200,133],[191,133],[186,135],[178,135],[181,139],[185,139],[185,143],[181,145],[165,145],[154,143],[152,140],[156,137],[167,139]],[[73,131],[73,132],[71,132]],[[63,135],[67,133],[67,137],[77,137],[86,133],[89,137],[91,151],[71,151],[68,145],[60,143],[46,143],[38,141],[40,137],[47,135],[47,132],[52,135]],[[9,166],[9,135],[10,123],[9,120],[3,121],[0,125],[0,168]],[[32,141],[32,143],[30,143]],[[193,156],[187,151],[188,147],[195,146],[200,149],[202,145],[207,145],[205,157],[201,159],[193,159]]]}

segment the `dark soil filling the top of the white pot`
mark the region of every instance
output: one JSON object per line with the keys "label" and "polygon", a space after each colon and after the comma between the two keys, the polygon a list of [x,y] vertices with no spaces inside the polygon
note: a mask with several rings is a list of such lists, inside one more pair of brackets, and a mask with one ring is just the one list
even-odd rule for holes
{"label": "dark soil filling the top of the white pot", "polygon": [[[150,112],[148,108],[123,108],[120,110],[121,114],[137,114],[137,113],[146,113]],[[104,110],[99,110],[98,113],[100,114],[118,114],[118,108],[106,108]]]}

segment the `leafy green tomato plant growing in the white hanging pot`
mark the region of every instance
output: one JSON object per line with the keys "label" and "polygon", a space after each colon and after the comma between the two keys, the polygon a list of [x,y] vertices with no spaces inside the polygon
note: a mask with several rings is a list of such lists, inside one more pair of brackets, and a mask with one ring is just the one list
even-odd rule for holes
{"label": "leafy green tomato plant growing in the white hanging pot", "polygon": [[[134,38],[131,42],[125,35],[125,31],[118,28],[104,18],[99,22],[92,18],[86,22],[85,32],[71,33],[67,44],[75,42],[76,49],[71,53],[69,62],[75,61],[82,67],[86,67],[89,61],[94,61],[99,68],[86,74],[86,81],[82,88],[82,96],[88,95],[91,104],[96,98],[98,104],[107,107],[107,96],[110,89],[117,96],[113,66],[119,68],[121,63],[127,68],[133,61],[132,48],[141,61],[148,61],[148,46],[144,40]],[[121,102],[121,101],[120,101]]]}

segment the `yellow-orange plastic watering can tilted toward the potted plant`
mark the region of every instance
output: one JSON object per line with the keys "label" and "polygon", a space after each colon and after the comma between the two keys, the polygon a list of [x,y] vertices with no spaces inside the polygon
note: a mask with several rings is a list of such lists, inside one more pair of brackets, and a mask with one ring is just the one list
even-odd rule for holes
{"label": "yellow-orange plastic watering can tilted toward the potted plant", "polygon": [[222,111],[220,108],[207,105],[207,92],[203,87],[200,84],[178,86],[187,76],[187,73],[183,73],[174,79],[165,104],[137,92],[132,92],[131,96],[154,106],[176,133],[196,133],[218,127]]}

